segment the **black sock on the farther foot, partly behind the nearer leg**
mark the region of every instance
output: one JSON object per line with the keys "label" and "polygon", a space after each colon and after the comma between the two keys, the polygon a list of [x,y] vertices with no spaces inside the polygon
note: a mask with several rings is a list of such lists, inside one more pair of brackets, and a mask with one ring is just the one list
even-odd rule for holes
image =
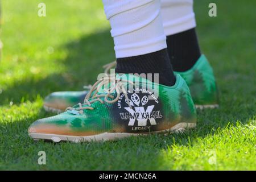
{"label": "black sock on the farther foot, partly behind the nearer leg", "polygon": [[195,28],[167,36],[166,42],[174,71],[187,71],[201,56]]}

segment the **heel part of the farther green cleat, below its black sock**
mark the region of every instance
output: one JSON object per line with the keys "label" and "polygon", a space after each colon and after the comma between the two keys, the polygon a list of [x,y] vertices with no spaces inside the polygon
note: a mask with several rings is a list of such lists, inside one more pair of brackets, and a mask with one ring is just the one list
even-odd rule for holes
{"label": "heel part of the farther green cleat, below its black sock", "polygon": [[175,72],[187,82],[196,108],[218,107],[218,90],[207,57],[201,55],[196,64],[185,72]]}

